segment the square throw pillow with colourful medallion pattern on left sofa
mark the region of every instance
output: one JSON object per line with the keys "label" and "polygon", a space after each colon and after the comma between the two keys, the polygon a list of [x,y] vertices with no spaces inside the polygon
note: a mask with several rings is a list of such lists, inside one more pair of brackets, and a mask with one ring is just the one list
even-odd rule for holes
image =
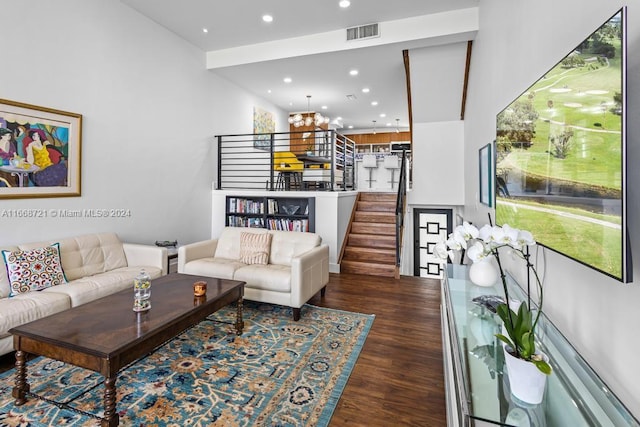
{"label": "square throw pillow with colourful medallion pattern on left sofa", "polygon": [[2,251],[9,278],[9,296],[67,283],[60,262],[60,244],[23,251]]}

